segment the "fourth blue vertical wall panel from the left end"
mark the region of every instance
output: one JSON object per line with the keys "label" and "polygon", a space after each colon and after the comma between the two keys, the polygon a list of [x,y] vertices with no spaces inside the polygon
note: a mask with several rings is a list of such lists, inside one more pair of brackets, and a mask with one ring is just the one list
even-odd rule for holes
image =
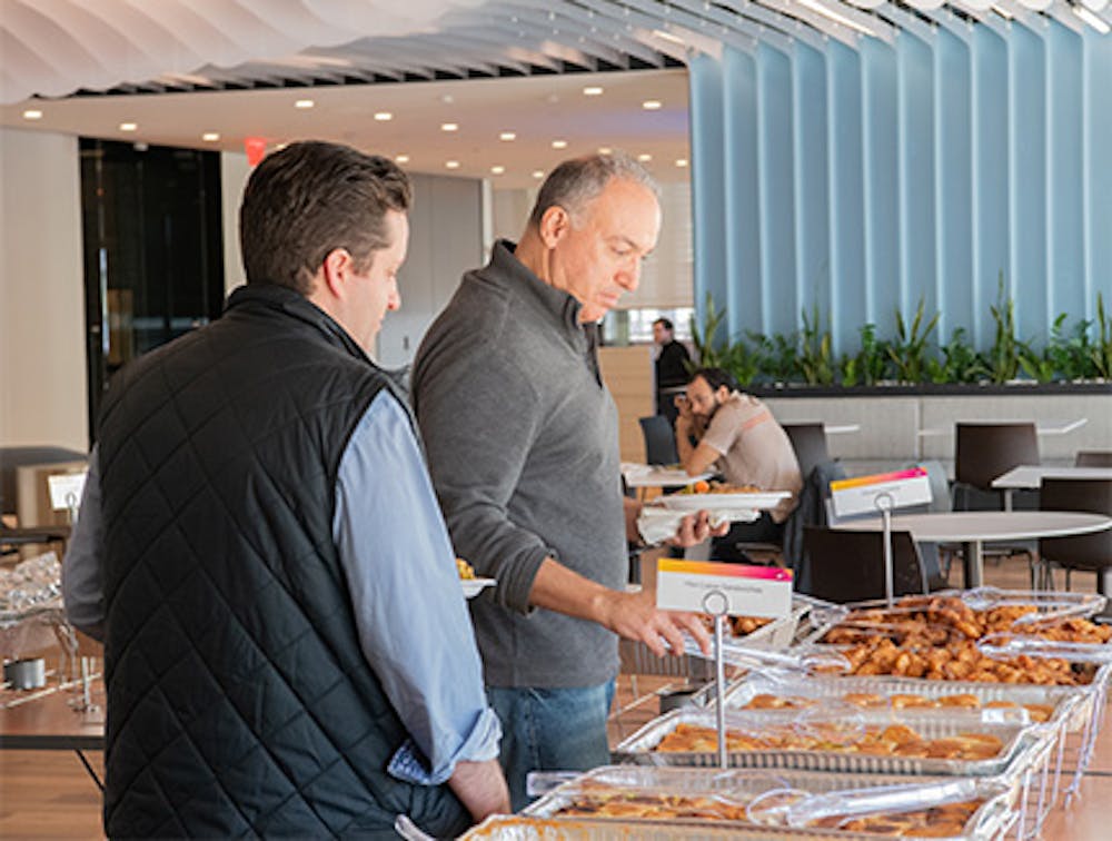
{"label": "fourth blue vertical wall panel from the left end", "polygon": [[[817,50],[795,42],[792,110],[795,137],[796,307],[831,311],[830,206],[826,167],[826,66]],[[840,343],[835,336],[837,350]]]}

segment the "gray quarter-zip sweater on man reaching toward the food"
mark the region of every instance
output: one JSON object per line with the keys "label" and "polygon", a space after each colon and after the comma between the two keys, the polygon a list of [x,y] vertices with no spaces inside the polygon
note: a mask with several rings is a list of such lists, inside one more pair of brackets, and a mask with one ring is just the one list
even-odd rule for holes
{"label": "gray quarter-zip sweater on man reaching toward the food", "polygon": [[546,556],[626,576],[617,410],[579,304],[499,241],[425,336],[413,400],[456,552],[498,580],[471,601],[490,686],[589,686],[618,671],[600,625],[530,609]]}

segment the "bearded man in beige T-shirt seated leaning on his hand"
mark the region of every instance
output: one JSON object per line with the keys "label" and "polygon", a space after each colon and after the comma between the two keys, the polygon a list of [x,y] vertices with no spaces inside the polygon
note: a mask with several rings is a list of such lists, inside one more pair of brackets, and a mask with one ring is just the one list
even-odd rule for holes
{"label": "bearded man in beige T-shirt seated leaning on his hand", "polygon": [[752,523],[735,523],[712,545],[715,561],[746,562],[738,543],[776,543],[783,540],[784,521],[794,511],[803,478],[795,451],[784,428],[756,397],[743,394],[722,368],[699,368],[687,383],[685,397],[676,398],[676,449],[687,475],[712,467],[731,485],[754,485],[762,491],[788,491],[791,496]]}

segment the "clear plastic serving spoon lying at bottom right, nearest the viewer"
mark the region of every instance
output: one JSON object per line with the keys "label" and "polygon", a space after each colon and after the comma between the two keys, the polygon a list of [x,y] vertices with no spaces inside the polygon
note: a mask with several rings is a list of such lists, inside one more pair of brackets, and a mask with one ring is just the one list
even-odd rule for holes
{"label": "clear plastic serving spoon lying at bottom right, nearest the viewer", "polygon": [[754,823],[804,828],[826,818],[851,820],[872,814],[916,812],[946,803],[983,799],[1001,791],[1002,786],[971,779],[878,785],[824,794],[786,788],[758,795],[749,802],[746,813]]}

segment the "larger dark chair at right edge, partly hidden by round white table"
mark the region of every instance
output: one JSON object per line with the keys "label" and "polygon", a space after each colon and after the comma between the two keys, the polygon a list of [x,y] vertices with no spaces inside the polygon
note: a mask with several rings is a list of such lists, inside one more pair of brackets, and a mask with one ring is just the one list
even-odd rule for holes
{"label": "larger dark chair at right edge, partly hidden by round white table", "polygon": [[[1080,511],[1112,516],[1112,479],[1044,478],[1039,507],[1043,511]],[[1053,588],[1051,565],[1065,570],[1065,588],[1074,570],[1096,573],[1096,592],[1104,592],[1104,572],[1112,568],[1112,531],[1039,541],[1040,586]]]}

